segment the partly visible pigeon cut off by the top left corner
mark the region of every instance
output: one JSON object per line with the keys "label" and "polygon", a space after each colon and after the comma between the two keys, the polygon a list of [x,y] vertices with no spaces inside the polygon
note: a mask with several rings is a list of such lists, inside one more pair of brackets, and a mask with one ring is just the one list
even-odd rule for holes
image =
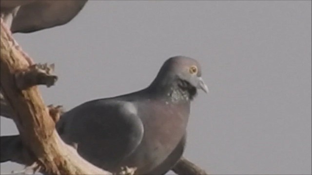
{"label": "partly visible pigeon cut off by the top left corner", "polygon": [[1,0],[0,11],[12,33],[30,33],[66,24],[87,0]]}

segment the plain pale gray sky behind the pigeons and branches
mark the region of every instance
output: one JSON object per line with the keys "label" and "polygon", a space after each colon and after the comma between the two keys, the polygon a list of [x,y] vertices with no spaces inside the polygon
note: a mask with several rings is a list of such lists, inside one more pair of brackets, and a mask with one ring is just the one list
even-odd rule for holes
{"label": "plain pale gray sky behind the pigeons and branches", "polygon": [[[212,174],[311,174],[311,20],[309,0],[89,1],[70,23],[15,38],[56,64],[56,86],[40,90],[66,109],[193,57],[210,93],[192,104],[185,157]],[[1,135],[16,133],[1,117]]]}

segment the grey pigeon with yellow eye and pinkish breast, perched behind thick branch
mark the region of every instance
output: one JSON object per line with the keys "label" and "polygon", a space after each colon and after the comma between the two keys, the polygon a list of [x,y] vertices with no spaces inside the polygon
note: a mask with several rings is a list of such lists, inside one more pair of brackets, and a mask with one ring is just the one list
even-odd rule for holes
{"label": "grey pigeon with yellow eye and pinkish breast, perched behind thick branch", "polygon": [[[118,174],[130,167],[137,175],[164,175],[185,149],[197,89],[208,93],[199,63],[174,56],[147,88],[78,105],[60,117],[56,128],[65,143],[99,168]],[[1,147],[5,144],[9,138],[1,137]],[[7,149],[1,148],[1,162],[9,160],[12,151],[2,150]]]}

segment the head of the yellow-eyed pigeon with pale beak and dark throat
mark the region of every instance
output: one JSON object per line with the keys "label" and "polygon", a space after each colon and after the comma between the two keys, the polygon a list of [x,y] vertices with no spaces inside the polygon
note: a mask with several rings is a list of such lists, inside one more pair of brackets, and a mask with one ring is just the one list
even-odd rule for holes
{"label": "head of the yellow-eyed pigeon with pale beak and dark throat", "polygon": [[186,56],[174,56],[165,61],[150,88],[174,100],[192,100],[197,89],[209,91],[201,78],[199,63]]}

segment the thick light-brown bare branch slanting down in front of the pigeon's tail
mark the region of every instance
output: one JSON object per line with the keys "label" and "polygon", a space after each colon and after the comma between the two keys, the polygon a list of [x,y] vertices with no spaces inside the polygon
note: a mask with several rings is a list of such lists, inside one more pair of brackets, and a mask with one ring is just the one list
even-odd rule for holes
{"label": "thick light-brown bare branch slanting down in front of the pigeon's tail", "polygon": [[6,33],[1,19],[0,30],[0,85],[7,105],[14,110],[23,144],[36,157],[36,162],[47,174],[109,175],[81,158],[77,151],[66,145],[55,130],[55,123],[44,105],[36,86],[20,90],[15,73],[29,66],[22,53],[12,47],[13,39]]}

